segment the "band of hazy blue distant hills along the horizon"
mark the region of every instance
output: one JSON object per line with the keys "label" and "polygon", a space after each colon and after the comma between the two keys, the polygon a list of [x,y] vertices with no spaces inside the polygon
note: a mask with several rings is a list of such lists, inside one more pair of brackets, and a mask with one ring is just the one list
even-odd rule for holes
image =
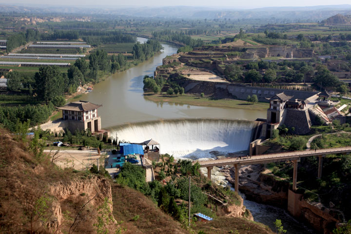
{"label": "band of hazy blue distant hills along the horizon", "polygon": [[[342,14],[351,15],[351,5],[323,5],[308,7],[264,7],[256,9],[235,9],[221,7],[194,6],[160,6],[160,7],[118,7],[111,6],[52,6],[0,4],[0,12],[18,12],[32,14],[111,14],[125,17],[146,18],[183,18],[183,19],[231,19],[231,20],[260,20],[279,22],[317,22],[328,17]],[[263,20],[263,21],[262,21]]]}

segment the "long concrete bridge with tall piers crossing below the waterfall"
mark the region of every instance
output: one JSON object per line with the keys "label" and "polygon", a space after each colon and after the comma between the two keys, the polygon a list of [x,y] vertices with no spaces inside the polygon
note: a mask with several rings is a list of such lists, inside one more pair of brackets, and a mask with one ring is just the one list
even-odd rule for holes
{"label": "long concrete bridge with tall piers crossing below the waterfall", "polygon": [[351,152],[351,147],[329,148],[319,150],[305,150],[305,151],[292,151],[276,154],[254,155],[254,156],[241,156],[223,158],[217,160],[195,161],[198,162],[200,167],[207,168],[207,177],[211,179],[211,170],[214,166],[234,165],[235,168],[235,186],[234,189],[238,192],[239,189],[239,168],[241,165],[249,164],[265,164],[270,162],[293,161],[293,176],[292,176],[292,190],[296,190],[297,181],[297,162],[301,157],[317,156],[318,157],[318,178],[322,176],[322,163],[323,156],[331,154],[346,154]]}

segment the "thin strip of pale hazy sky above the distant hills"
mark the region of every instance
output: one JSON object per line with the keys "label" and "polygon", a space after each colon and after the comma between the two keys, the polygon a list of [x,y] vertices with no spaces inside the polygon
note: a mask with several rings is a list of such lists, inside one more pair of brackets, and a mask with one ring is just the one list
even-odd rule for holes
{"label": "thin strip of pale hazy sky above the distant hills", "polygon": [[[250,5],[246,4],[250,3]],[[211,6],[231,8],[258,8],[266,6],[315,6],[351,4],[350,0],[0,0],[0,4],[55,4],[55,5],[110,5],[110,6]]]}

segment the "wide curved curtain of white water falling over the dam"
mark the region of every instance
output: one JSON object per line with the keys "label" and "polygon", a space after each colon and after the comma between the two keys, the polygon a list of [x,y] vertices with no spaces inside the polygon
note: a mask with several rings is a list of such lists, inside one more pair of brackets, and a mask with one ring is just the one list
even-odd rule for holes
{"label": "wide curved curtain of white water falling over the dam", "polygon": [[210,152],[234,153],[248,150],[256,121],[229,119],[167,119],[126,123],[111,128],[119,141],[140,143],[154,139],[160,153],[176,158],[211,157]]}

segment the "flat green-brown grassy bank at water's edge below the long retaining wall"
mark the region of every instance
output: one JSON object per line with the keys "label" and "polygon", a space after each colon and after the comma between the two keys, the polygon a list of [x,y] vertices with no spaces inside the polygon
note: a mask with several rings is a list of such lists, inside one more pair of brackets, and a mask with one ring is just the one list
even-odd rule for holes
{"label": "flat green-brown grassy bank at water's edge below the long retaining wall", "polygon": [[167,95],[144,93],[144,98],[154,102],[168,102],[182,105],[206,106],[206,107],[221,107],[221,108],[235,108],[244,110],[266,111],[269,108],[269,103],[256,102],[248,104],[247,101],[235,99],[218,99],[212,100],[210,98],[201,98],[197,95],[183,94],[183,95]]}

